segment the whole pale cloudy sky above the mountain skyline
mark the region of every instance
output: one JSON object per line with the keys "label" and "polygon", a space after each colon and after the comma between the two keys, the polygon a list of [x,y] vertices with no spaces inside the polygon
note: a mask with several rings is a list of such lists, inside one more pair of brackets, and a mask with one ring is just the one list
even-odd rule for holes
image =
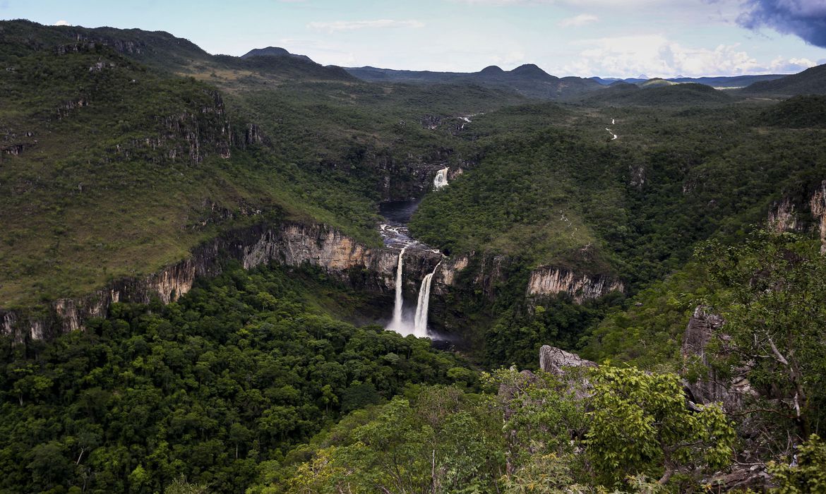
{"label": "whole pale cloudy sky above the mountain skyline", "polygon": [[212,54],[580,77],[790,74],[826,63],[826,0],[0,0],[0,19],[169,31]]}

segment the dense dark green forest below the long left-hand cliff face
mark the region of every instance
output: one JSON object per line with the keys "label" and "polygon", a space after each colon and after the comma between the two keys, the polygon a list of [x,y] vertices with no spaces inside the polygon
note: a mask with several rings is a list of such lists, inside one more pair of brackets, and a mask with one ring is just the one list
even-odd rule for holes
{"label": "dense dark green forest below the long left-hand cliff face", "polygon": [[116,304],[48,343],[4,337],[0,490],[236,492],[343,407],[467,385],[429,340],[312,308],[324,296],[305,276],[230,267],[168,306]]}

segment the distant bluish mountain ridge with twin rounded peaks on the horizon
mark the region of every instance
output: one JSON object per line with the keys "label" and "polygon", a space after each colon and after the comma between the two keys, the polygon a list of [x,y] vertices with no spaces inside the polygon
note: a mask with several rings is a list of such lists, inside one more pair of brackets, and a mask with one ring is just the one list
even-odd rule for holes
{"label": "distant bluish mountain ridge with twin rounded peaks on the horizon", "polygon": [[591,79],[578,77],[558,78],[534,64],[520,65],[506,71],[491,65],[479,72],[431,72],[429,70],[394,70],[376,67],[353,67],[349,74],[369,82],[385,83],[469,83],[495,88],[508,88],[525,97],[536,99],[566,99],[588,93],[603,86]]}

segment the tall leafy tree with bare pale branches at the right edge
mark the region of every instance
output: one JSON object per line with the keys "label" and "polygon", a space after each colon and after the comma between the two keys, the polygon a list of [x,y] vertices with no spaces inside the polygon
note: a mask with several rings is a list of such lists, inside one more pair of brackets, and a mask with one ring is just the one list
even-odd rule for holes
{"label": "tall leafy tree with bare pale branches at the right edge", "polygon": [[826,406],[826,258],[818,242],[758,231],[743,245],[709,242],[697,255],[717,285],[701,302],[725,321],[710,345],[716,367],[744,369],[762,396],[759,408],[790,418],[798,437],[808,437]]}

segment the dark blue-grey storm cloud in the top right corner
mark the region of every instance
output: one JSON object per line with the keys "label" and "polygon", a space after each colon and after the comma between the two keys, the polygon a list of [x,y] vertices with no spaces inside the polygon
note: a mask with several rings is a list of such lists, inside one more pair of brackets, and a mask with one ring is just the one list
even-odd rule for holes
{"label": "dark blue-grey storm cloud in the top right corner", "polygon": [[826,0],[747,0],[737,21],[748,29],[762,26],[800,36],[826,48]]}

